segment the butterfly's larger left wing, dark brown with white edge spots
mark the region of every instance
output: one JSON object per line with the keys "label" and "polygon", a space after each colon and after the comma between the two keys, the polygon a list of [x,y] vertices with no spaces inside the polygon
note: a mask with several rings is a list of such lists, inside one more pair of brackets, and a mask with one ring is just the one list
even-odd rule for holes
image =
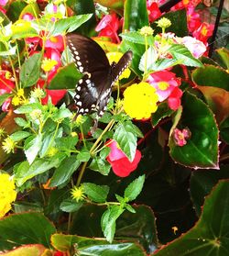
{"label": "butterfly's larger left wing, dark brown with white edge spots", "polygon": [[74,96],[78,113],[99,112],[98,99],[112,83],[111,66],[104,50],[93,39],[78,34],[67,35],[66,41],[78,70],[84,73]]}

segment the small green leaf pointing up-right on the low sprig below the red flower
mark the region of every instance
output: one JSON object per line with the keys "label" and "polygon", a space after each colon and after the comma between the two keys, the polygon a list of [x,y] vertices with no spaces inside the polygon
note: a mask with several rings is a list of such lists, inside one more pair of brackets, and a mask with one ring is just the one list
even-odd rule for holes
{"label": "small green leaf pointing up-right on the low sprig below the red flower", "polygon": [[139,176],[134,180],[131,184],[129,184],[125,188],[125,199],[127,200],[126,202],[130,202],[136,199],[136,196],[139,195],[142,191],[143,184],[145,182],[145,175]]}

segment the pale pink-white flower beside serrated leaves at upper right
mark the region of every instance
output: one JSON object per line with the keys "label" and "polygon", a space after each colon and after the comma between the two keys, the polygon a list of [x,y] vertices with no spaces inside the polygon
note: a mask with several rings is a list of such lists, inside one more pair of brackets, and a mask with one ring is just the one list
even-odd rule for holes
{"label": "pale pink-white flower beside serrated leaves at upper right", "polygon": [[191,51],[191,54],[197,59],[202,57],[202,54],[207,50],[206,46],[202,41],[194,39],[192,37],[182,38],[182,43],[185,47],[188,48],[188,50]]}

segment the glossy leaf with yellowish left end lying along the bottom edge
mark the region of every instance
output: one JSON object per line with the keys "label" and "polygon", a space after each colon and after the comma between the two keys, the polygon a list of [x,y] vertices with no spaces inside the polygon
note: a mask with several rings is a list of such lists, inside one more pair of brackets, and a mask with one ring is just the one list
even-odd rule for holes
{"label": "glossy leaf with yellowish left end lying along the bottom edge", "polygon": [[109,244],[102,239],[89,239],[73,235],[54,234],[51,236],[51,244],[60,251],[71,250],[72,247],[77,244],[77,250],[79,250],[82,255],[146,255],[138,245],[132,242],[114,242]]}

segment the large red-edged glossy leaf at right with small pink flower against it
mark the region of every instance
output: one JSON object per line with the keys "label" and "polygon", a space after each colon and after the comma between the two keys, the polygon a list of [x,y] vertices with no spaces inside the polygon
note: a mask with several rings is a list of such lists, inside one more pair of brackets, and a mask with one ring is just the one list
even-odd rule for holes
{"label": "large red-edged glossy leaf at right with small pink flower against it", "polygon": [[170,156],[174,161],[191,168],[218,169],[219,131],[213,112],[190,93],[182,96],[182,106],[182,117],[177,128],[189,128],[191,138],[180,147],[176,145],[172,132],[169,136]]}

